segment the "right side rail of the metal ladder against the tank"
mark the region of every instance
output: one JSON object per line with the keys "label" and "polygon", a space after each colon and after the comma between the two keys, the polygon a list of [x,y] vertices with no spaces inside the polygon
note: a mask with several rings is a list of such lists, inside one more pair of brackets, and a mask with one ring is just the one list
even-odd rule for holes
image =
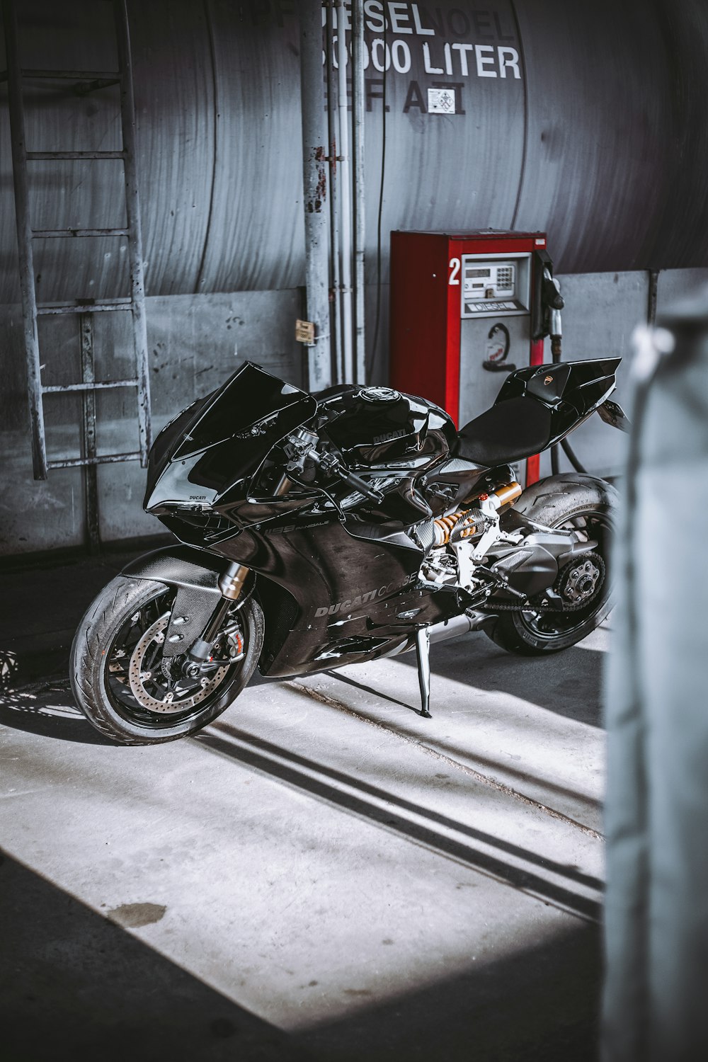
{"label": "right side rail of the metal ladder against the tank", "polygon": [[123,135],[123,173],[125,178],[125,220],[128,227],[131,270],[131,310],[138,377],[138,431],[140,464],[148,466],[152,446],[150,404],[150,365],[148,361],[148,326],[145,322],[145,282],[142,269],[142,228],[138,195],[138,169],[135,157],[135,98],[133,95],[133,59],[125,0],[115,0],[116,41],[120,71],[120,114]]}

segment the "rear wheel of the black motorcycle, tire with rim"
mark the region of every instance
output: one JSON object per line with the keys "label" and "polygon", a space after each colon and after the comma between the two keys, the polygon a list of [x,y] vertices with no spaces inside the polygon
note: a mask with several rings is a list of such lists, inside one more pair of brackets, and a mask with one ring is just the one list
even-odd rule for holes
{"label": "rear wheel of the black motorcycle, tire with rim", "polygon": [[597,542],[562,569],[556,593],[564,607],[530,602],[528,609],[500,613],[486,628],[488,637],[507,652],[539,656],[582,641],[606,619],[612,606],[610,539],[617,518],[614,486],[590,476],[553,476],[530,487],[517,510],[548,528],[573,530],[581,541]]}

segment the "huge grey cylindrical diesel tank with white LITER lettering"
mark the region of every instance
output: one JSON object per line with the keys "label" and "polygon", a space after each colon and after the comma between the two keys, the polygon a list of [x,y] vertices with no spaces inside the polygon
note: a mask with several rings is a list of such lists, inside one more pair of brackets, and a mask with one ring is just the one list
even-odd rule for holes
{"label": "huge grey cylindrical diesel tank with white LITER lettering", "polygon": [[[384,276],[392,228],[546,228],[566,273],[706,263],[703,0],[385,6],[384,33],[383,4],[365,4],[369,269],[384,92]],[[23,66],[114,65],[107,4],[18,7]],[[128,0],[128,12],[149,293],[303,284],[297,4]],[[431,88],[454,91],[454,114],[428,113]],[[28,83],[27,108],[31,149],[118,147],[116,88],[79,98],[66,83]],[[10,303],[19,291],[0,114]],[[120,162],[30,165],[37,227],[122,220]],[[122,241],[92,241],[90,253],[87,242],[38,243],[40,298],[117,293]]]}

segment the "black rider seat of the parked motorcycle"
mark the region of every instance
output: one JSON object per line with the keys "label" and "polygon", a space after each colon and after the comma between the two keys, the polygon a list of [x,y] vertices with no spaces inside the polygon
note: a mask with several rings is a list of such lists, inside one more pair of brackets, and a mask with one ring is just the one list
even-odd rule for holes
{"label": "black rider seat of the parked motorcycle", "polygon": [[507,398],[460,429],[455,456],[491,468],[539,453],[551,441],[551,416],[533,398]]}

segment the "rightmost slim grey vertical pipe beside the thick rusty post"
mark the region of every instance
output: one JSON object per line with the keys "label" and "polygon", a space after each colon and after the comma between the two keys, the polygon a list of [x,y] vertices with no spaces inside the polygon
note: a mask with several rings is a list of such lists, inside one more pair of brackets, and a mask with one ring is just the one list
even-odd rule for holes
{"label": "rightmost slim grey vertical pipe beside the thick rusty post", "polygon": [[[385,62],[385,56],[384,56]],[[355,189],[355,382],[366,382],[364,337],[364,0],[351,4],[351,140]]]}

